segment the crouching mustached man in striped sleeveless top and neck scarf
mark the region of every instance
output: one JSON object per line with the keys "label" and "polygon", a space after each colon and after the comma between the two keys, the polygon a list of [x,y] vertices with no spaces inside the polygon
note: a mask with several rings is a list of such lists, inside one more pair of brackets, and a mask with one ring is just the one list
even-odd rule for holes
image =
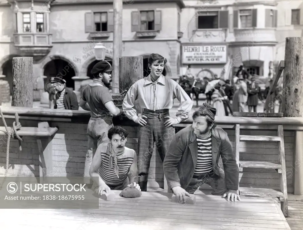
{"label": "crouching mustached man in striped sleeveless top and neck scarf", "polygon": [[111,189],[123,190],[133,184],[138,185],[137,154],[125,147],[128,131],[120,126],[108,130],[109,143],[98,146],[93,157],[89,175],[94,181],[92,189],[98,194]]}

